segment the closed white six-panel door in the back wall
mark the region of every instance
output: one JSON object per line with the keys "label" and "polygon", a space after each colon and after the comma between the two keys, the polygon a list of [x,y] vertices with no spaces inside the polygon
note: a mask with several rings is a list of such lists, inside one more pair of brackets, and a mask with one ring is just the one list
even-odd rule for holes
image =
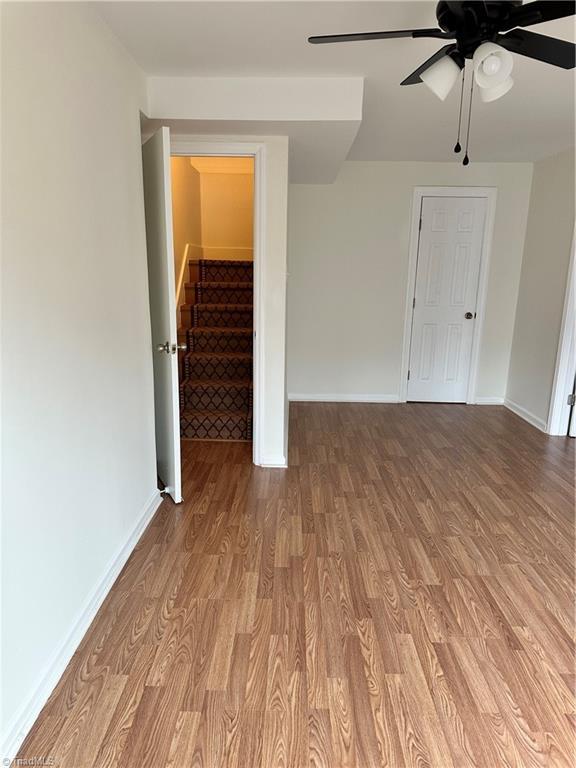
{"label": "closed white six-panel door in the back wall", "polygon": [[466,402],[485,216],[485,198],[422,199],[408,400]]}

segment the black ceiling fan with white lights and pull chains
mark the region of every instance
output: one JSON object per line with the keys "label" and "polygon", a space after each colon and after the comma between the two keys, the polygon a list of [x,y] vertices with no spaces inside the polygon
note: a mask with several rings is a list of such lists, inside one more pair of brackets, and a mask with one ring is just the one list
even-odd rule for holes
{"label": "black ceiling fan with white lights and pull chains", "polygon": [[[470,109],[474,82],[482,101],[494,101],[513,86],[512,53],[572,69],[576,64],[576,45],[555,37],[529,32],[523,27],[576,14],[574,0],[440,0],[436,6],[438,28],[357,32],[352,34],[309,37],[310,43],[341,43],[355,40],[387,40],[401,37],[431,37],[450,40],[421,64],[400,85],[425,83],[444,100],[462,72],[462,94],[458,134],[462,116],[464,67],[471,59],[474,77],[471,83]],[[470,116],[468,119],[468,132]],[[460,142],[455,147],[460,151]],[[464,159],[467,165],[467,155]]]}

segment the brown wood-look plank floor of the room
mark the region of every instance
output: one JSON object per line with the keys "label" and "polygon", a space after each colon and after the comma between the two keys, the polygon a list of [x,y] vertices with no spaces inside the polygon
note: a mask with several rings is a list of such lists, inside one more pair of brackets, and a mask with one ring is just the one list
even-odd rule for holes
{"label": "brown wood-look plank floor of the room", "polygon": [[185,503],[163,503],[20,757],[574,765],[574,441],[502,407],[298,404],[288,470],[183,451]]}

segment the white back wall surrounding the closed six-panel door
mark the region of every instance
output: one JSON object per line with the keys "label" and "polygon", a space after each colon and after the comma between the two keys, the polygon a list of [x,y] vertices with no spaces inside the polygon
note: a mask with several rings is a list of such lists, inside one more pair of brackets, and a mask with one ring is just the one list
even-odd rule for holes
{"label": "white back wall surrounding the closed six-panel door", "polygon": [[289,396],[398,397],[410,212],[417,186],[498,188],[478,398],[503,398],[530,163],[346,162],[333,185],[291,185]]}

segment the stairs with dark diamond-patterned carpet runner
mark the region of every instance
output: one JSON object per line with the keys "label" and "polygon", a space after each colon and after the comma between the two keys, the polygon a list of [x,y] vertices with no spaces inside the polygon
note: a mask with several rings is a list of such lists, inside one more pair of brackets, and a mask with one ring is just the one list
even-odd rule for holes
{"label": "stairs with dark diamond-patterned carpet runner", "polygon": [[252,439],[251,261],[188,263],[180,310],[180,435]]}

